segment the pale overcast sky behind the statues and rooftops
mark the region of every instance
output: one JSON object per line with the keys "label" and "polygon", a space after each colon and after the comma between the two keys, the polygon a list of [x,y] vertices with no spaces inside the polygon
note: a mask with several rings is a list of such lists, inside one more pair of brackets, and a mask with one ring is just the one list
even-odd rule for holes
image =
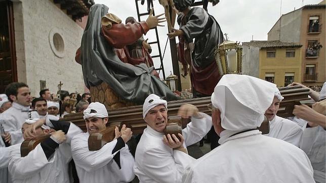
{"label": "pale overcast sky behind the statues and rooftops", "polygon": [[[109,12],[117,15],[123,20],[123,23],[129,16],[133,16],[137,20],[134,0],[95,0],[95,2],[108,6]],[[254,40],[267,40],[267,33],[278,20],[280,14],[286,14],[304,5],[318,4],[319,2],[321,0],[220,0],[220,3],[214,7],[209,3],[208,12],[215,17],[223,33],[227,33],[230,40],[246,42],[252,40],[252,36],[254,36]],[[158,0],[154,0],[153,3],[156,15],[164,13],[164,9],[158,4]],[[139,8],[140,13],[145,13],[146,1],[145,5],[140,5]],[[144,16],[141,20],[146,20],[146,18],[147,16]],[[166,23],[164,24],[166,25]],[[175,28],[178,28],[177,23]],[[168,37],[167,33],[167,25],[158,27],[162,54]],[[144,38],[149,38],[149,42],[154,41],[155,32],[148,32]],[[152,47],[154,46],[152,45]],[[153,52],[155,50],[157,48],[153,48]],[[155,68],[159,67],[157,61],[154,61],[154,65]],[[166,76],[170,75],[172,62],[169,43],[164,57],[164,67]]]}

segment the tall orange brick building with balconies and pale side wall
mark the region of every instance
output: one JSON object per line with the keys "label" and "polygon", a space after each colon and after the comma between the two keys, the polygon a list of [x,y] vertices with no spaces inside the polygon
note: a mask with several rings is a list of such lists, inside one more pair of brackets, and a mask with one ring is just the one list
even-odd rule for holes
{"label": "tall orange brick building with balconies and pale side wall", "polygon": [[302,45],[301,81],[308,86],[321,86],[326,80],[325,8],[323,0],[317,5],[306,5],[284,14],[268,32],[268,40]]}

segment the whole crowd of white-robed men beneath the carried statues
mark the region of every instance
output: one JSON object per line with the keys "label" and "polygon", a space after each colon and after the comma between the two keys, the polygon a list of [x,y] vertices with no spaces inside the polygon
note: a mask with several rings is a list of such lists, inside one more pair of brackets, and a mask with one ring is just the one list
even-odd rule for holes
{"label": "whole crowd of white-robed men beneath the carried statues", "polygon": [[[71,122],[59,121],[59,104],[51,101],[47,89],[32,100],[28,86],[16,82],[7,86],[6,96],[1,95],[0,103],[5,129],[0,139],[1,182],[131,182],[135,175],[140,182],[325,181],[325,84],[320,94],[311,90],[312,108],[295,106],[296,117],[290,120],[276,115],[283,97],[275,84],[224,75],[211,97],[212,116],[190,104],[179,108],[178,115],[191,122],[178,136],[164,134],[167,101],[151,94],[143,104],[147,128],[134,156],[127,144],[132,130],[126,125],[116,127],[114,140],[100,150],[89,150],[89,136],[109,123],[99,102],[89,104],[84,98],[75,106],[84,114],[84,133]],[[262,135],[257,127],[264,116],[270,131]],[[187,146],[199,142],[212,126],[220,146],[197,160],[189,156]],[[22,157],[22,142],[44,134],[50,135]]]}

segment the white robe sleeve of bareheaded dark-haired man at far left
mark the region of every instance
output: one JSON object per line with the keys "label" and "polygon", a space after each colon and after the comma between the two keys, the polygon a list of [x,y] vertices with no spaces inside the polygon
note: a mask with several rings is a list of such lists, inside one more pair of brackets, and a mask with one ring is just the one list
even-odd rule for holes
{"label": "white robe sleeve of bareheaded dark-haired man at far left", "polygon": [[2,115],[2,124],[5,128],[5,131],[9,132],[11,135],[11,144],[15,145],[18,143],[22,143],[23,133],[21,132],[21,126],[17,129],[17,121],[12,116]]}

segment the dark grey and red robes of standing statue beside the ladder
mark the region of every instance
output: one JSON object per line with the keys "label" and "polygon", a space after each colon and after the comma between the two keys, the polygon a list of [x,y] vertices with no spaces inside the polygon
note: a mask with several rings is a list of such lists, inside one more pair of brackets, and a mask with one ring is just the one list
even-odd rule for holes
{"label": "dark grey and red robes of standing statue beside the ladder", "polygon": [[[184,45],[180,44],[189,43],[193,38],[195,39],[190,64],[192,87],[200,94],[210,96],[220,79],[214,52],[217,45],[224,40],[221,28],[215,18],[202,8],[192,8],[186,16],[180,13],[178,24],[183,31],[179,42],[181,57],[184,56]],[[182,64],[185,65],[185,63]]]}

